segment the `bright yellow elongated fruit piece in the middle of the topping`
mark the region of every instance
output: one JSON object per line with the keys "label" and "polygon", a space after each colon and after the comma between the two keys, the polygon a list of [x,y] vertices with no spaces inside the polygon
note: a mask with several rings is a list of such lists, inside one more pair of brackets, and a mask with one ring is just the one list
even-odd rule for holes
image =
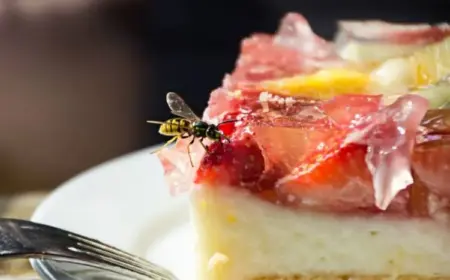
{"label": "bright yellow elongated fruit piece in the middle of the topping", "polygon": [[311,75],[263,82],[264,90],[288,96],[328,99],[341,94],[364,94],[370,76],[350,69],[326,69]]}

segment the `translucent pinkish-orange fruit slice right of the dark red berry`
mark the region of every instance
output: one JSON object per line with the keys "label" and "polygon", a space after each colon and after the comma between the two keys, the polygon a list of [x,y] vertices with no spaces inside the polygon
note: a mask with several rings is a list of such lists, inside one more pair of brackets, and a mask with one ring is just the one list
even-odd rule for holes
{"label": "translucent pinkish-orange fruit slice right of the dark red berry", "polygon": [[[309,172],[321,161],[339,152],[354,121],[376,112],[380,103],[380,96],[339,96],[318,105],[320,114],[307,111],[305,120],[298,118],[300,112],[296,112],[294,122],[290,115],[275,117],[269,113],[264,117],[270,121],[250,125],[255,141],[263,150],[267,167],[277,166],[286,172],[285,175],[294,170]],[[306,111],[310,108],[302,109]]]}

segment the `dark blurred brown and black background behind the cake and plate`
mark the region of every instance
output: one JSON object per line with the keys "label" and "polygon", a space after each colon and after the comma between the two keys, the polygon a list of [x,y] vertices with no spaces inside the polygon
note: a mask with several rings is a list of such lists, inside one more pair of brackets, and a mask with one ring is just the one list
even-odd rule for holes
{"label": "dark blurred brown and black background behind the cake and plate", "polygon": [[447,1],[0,0],[0,192],[51,189],[160,143],[167,91],[201,114],[240,40],[301,12],[331,39],[338,19],[448,21]]}

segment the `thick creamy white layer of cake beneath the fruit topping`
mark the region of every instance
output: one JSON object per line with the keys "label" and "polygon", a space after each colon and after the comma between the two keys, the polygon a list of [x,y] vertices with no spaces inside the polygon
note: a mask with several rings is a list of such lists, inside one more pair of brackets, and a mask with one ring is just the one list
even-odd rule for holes
{"label": "thick creamy white layer of cake beneath the fruit topping", "polygon": [[450,230],[433,220],[295,211],[217,186],[193,192],[192,217],[201,280],[450,276]]}

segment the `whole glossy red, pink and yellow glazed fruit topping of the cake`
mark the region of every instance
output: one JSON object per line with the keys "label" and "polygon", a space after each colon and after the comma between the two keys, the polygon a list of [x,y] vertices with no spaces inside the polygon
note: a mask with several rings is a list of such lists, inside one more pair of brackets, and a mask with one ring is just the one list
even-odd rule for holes
{"label": "whole glossy red, pink and yellow glazed fruit topping of the cake", "polygon": [[[229,186],[320,211],[449,212],[450,29],[378,21],[339,27],[328,42],[290,13],[275,35],[244,39],[236,68],[203,115],[237,120],[219,126],[231,141],[209,143],[208,152],[194,144],[193,168],[188,141],[160,152],[172,192]],[[382,58],[371,56],[373,46]]]}

